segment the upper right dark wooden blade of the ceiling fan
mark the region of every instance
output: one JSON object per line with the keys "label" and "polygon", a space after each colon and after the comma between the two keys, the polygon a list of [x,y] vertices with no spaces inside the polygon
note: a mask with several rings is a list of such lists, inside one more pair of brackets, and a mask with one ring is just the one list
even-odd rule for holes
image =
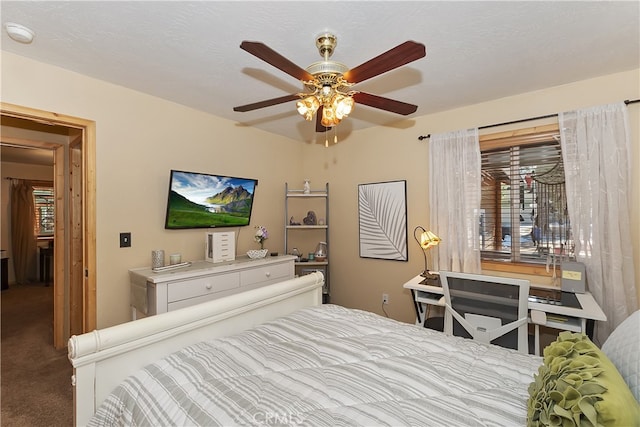
{"label": "upper right dark wooden blade of the ceiling fan", "polygon": [[359,83],[423,58],[426,54],[427,50],[422,43],[409,40],[352,68],[343,77],[349,83]]}

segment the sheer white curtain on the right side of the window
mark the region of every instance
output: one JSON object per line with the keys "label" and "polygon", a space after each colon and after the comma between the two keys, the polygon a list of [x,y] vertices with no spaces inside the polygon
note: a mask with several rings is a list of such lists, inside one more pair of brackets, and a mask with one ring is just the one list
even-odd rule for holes
{"label": "sheer white curtain on the right side of the window", "polygon": [[637,309],[629,225],[631,142],[624,103],[559,114],[567,206],[577,260],[607,316],[602,344]]}

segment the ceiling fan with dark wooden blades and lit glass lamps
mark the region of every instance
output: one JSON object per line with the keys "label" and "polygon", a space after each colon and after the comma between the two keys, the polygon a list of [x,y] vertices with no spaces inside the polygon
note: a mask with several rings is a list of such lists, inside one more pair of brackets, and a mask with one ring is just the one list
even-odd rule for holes
{"label": "ceiling fan with dark wooden blades and lit glass lamps", "polygon": [[316,46],[323,60],[303,69],[264,43],[243,41],[241,49],[300,80],[307,92],[241,105],[234,107],[233,111],[253,111],[298,100],[298,112],[309,121],[316,115],[316,132],[326,132],[347,117],[354,103],[402,115],[414,113],[418,109],[417,105],[351,90],[351,86],[423,58],[426,49],[422,43],[406,41],[351,69],[329,60],[337,43],[337,37],[333,34],[319,35]]}

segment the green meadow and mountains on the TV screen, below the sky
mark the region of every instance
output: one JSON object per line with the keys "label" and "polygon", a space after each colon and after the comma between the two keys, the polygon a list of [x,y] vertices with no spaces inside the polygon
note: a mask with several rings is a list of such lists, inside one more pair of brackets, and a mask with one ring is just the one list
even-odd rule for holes
{"label": "green meadow and mountains on the TV screen, below the sky", "polygon": [[171,228],[229,227],[247,225],[253,195],[241,185],[224,190],[196,203],[178,191],[169,193],[167,226]]}

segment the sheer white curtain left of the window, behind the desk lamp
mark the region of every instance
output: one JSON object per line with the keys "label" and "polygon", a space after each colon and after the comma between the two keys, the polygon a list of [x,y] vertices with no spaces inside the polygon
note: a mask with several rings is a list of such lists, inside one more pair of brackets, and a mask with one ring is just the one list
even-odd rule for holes
{"label": "sheer white curtain left of the window, behind the desk lamp", "polygon": [[434,270],[480,273],[480,144],[478,129],[431,135],[429,229],[442,242]]}

